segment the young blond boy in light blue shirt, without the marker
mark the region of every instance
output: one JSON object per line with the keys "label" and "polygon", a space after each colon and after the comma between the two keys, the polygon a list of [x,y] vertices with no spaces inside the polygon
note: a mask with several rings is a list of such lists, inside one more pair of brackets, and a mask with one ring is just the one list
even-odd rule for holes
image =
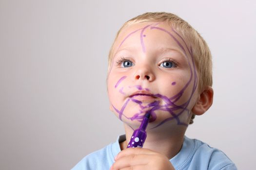
{"label": "young blond boy in light blue shirt, without the marker", "polygon": [[[184,136],[195,115],[213,102],[211,53],[186,21],[170,13],[127,21],[108,68],[110,109],[123,121],[125,135],[73,170],[236,170],[223,152]],[[146,113],[143,148],[127,148]]]}

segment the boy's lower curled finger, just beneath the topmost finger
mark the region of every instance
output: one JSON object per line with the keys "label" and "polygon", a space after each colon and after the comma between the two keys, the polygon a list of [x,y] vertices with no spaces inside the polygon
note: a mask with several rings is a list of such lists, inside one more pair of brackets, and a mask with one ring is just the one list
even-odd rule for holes
{"label": "boy's lower curled finger, just beneath the topmost finger", "polygon": [[122,170],[128,167],[134,168],[138,165],[145,166],[149,161],[148,156],[148,154],[131,154],[128,156],[122,156],[112,165],[112,170]]}

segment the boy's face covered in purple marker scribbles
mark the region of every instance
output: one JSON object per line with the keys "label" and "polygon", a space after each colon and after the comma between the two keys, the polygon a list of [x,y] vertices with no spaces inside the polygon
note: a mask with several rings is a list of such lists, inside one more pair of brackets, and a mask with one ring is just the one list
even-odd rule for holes
{"label": "boy's face covered in purple marker scribbles", "polygon": [[133,24],[119,34],[108,75],[110,108],[138,127],[188,125],[197,97],[197,69],[190,44],[164,22]]}

